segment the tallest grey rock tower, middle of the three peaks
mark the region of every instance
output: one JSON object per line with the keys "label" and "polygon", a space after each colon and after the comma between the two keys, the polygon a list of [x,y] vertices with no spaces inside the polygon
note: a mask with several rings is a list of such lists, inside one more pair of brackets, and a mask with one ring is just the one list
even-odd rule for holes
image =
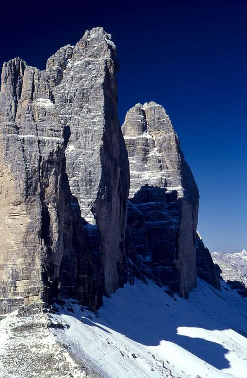
{"label": "tallest grey rock tower, middle of the three peaks", "polygon": [[116,47],[109,34],[94,28],[75,47],[63,47],[48,59],[50,77],[57,67],[61,81],[53,94],[59,119],[70,135],[66,172],[87,222],[88,247],[94,256],[102,251],[105,289],[110,294],[124,272],[129,190],[127,152],[117,114]]}

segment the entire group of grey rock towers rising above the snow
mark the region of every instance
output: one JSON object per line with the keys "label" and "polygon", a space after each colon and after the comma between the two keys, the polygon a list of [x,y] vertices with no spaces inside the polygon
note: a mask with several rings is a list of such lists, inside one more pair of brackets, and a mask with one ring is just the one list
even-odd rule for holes
{"label": "entire group of grey rock towers rising above the snow", "polygon": [[218,287],[170,119],[155,102],[136,104],[122,134],[117,70],[103,28],[61,47],[43,71],[19,58],[3,65],[0,314],[45,311],[62,297],[96,310],[134,276],[187,294],[198,270]]}

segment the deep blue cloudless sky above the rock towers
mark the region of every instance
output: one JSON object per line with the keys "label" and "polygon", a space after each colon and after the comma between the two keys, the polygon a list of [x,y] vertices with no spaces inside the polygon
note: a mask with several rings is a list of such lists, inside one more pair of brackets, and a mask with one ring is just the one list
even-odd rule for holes
{"label": "deep blue cloudless sky above the rock towers", "polygon": [[205,244],[247,248],[246,1],[9,4],[1,5],[0,65],[19,56],[43,69],[86,29],[112,34],[121,122],[136,102],[164,105],[199,187]]}

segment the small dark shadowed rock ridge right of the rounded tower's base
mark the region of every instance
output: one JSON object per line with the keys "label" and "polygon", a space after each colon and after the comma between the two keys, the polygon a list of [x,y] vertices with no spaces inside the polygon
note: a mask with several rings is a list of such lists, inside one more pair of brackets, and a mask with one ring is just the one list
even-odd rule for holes
{"label": "small dark shadowed rock ridge right of the rounded tower's base", "polygon": [[220,290],[221,270],[213,263],[208,248],[205,247],[202,237],[197,233],[197,275],[208,284]]}

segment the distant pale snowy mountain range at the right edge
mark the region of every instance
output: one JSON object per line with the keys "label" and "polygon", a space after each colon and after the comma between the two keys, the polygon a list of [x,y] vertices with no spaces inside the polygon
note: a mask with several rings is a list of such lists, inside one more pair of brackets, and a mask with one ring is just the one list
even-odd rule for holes
{"label": "distant pale snowy mountain range at the right edge", "polygon": [[247,251],[243,249],[236,253],[211,253],[213,262],[222,270],[224,281],[241,281],[247,286]]}

